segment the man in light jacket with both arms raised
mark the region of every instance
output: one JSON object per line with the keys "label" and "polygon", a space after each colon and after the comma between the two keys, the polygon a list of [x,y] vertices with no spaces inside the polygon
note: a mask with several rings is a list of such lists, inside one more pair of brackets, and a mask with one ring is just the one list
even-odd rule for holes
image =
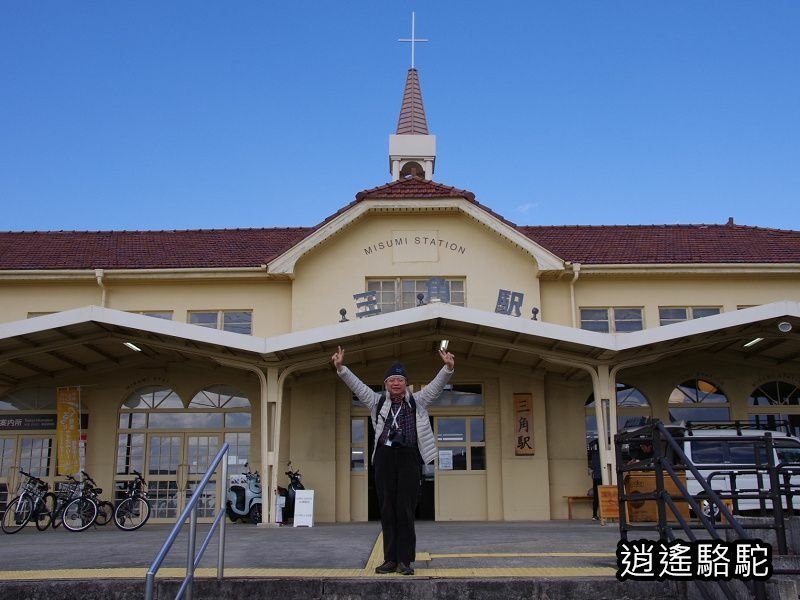
{"label": "man in light jacket with both arms raised", "polygon": [[385,392],[367,387],[344,366],[344,350],[339,346],[331,357],[342,381],[369,409],[375,428],[372,464],[375,489],[383,529],[383,564],[376,573],[413,575],[411,563],[417,551],[414,512],[417,509],[420,465],[436,457],[436,439],[428,418],[428,406],[438,398],[455,369],[455,357],[440,349],[444,362],[433,381],[422,391],[408,391],[406,370],[394,363],[384,375]]}

